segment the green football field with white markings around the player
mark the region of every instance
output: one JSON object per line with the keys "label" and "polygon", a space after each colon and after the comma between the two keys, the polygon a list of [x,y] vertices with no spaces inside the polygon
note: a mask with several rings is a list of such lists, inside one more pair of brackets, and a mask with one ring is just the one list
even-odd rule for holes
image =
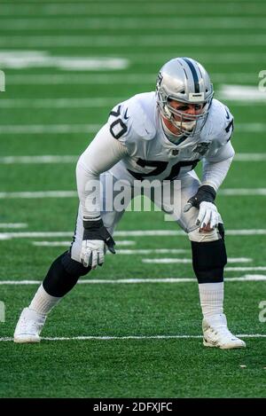
{"label": "green football field with white markings around the player", "polygon": [[[1,1],[1,397],[266,396],[265,46],[263,0]],[[190,242],[154,210],[123,216],[117,254],[51,311],[40,344],[14,344],[20,311],[71,242],[75,161],[176,56],[207,68],[235,117],[217,205],[224,310],[246,349],[203,347]]]}

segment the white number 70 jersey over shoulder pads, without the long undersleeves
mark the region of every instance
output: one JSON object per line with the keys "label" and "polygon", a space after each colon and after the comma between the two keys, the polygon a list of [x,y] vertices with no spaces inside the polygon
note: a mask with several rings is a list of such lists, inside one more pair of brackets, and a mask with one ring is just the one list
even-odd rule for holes
{"label": "white number 70 jersey over shoulder pads, without the long undersleeves", "polygon": [[233,156],[232,124],[229,109],[214,99],[200,133],[176,145],[168,140],[162,128],[155,92],[137,94],[110,113],[108,129],[127,149],[127,154],[110,172],[129,183],[134,179],[181,179],[203,158],[220,162]]}

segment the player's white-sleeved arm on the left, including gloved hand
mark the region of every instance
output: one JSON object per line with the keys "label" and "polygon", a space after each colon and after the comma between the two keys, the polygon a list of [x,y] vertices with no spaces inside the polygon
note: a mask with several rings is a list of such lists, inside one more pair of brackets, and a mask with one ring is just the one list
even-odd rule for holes
{"label": "player's white-sleeved arm on the left, including gloved hand", "polygon": [[95,269],[104,263],[105,244],[112,253],[114,241],[100,216],[99,176],[127,155],[127,147],[113,137],[109,124],[98,131],[76,166],[77,190],[82,206],[81,262]]}

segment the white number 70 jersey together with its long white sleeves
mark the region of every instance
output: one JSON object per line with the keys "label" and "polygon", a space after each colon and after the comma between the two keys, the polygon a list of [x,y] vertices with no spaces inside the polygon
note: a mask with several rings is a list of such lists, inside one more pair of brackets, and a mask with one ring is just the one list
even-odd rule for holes
{"label": "white number 70 jersey together with its long white sleeves", "polygon": [[[136,181],[158,183],[174,179],[191,186],[187,177],[195,177],[192,169],[204,159],[201,184],[213,186],[217,191],[234,155],[230,142],[232,122],[228,108],[214,99],[201,132],[176,145],[163,130],[154,92],[138,94],[115,106],[108,122],[77,163],[77,189],[84,215],[98,216],[99,192],[93,204],[88,186],[107,171],[129,187]],[[186,190],[190,196],[192,191],[197,192],[194,188]]]}

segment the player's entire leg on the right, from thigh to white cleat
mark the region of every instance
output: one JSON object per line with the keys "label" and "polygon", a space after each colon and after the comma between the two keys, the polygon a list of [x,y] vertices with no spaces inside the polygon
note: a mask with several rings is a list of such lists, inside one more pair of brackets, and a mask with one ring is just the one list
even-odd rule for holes
{"label": "player's entire leg on the right, from thigh to white cleat", "polygon": [[[180,207],[176,210],[175,219],[184,232],[187,232],[192,244],[192,264],[199,283],[203,314],[203,344],[221,349],[245,347],[245,342],[229,331],[223,313],[223,269],[227,256],[222,219],[219,230],[199,232],[199,227],[195,224],[199,210],[191,208],[184,213],[184,205],[198,191],[199,186],[200,180],[193,171],[182,179],[181,193],[179,184],[180,199],[177,198]],[[171,192],[175,192],[174,185]]]}

